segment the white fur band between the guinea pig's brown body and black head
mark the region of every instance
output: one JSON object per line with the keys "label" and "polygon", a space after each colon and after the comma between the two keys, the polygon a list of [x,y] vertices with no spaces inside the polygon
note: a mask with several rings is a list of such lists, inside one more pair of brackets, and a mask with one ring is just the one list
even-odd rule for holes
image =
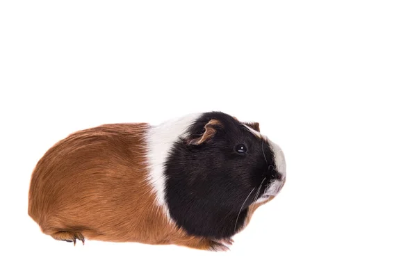
{"label": "white fur band between the guinea pig's brown body and black head", "polygon": [[165,199],[164,163],[170,154],[174,142],[186,135],[186,130],[201,113],[195,113],[174,120],[151,126],[147,134],[147,162],[149,165],[149,182],[156,193],[156,203],[163,208],[168,220],[170,212]]}

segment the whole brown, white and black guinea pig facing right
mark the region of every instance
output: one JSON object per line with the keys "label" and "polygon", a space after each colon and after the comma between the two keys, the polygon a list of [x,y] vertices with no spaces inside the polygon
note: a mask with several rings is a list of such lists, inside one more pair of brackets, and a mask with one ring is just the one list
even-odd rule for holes
{"label": "whole brown, white and black guinea pig facing right", "polygon": [[286,162],[256,122],[222,112],[71,133],[32,172],[28,215],[42,233],[225,251],[280,192]]}

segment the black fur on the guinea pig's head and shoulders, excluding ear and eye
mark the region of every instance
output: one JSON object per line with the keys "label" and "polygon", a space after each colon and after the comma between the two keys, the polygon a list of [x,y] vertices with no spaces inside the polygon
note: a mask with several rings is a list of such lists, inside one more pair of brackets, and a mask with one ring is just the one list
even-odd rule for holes
{"label": "black fur on the guinea pig's head and shoulders, excluding ear and eye", "polygon": [[[242,227],[256,195],[279,173],[268,142],[227,114],[204,113],[190,126],[187,139],[202,136],[213,119],[222,126],[207,142],[174,144],[165,163],[165,195],[171,217],[189,234],[230,238]],[[247,146],[247,154],[236,152],[239,144]]]}

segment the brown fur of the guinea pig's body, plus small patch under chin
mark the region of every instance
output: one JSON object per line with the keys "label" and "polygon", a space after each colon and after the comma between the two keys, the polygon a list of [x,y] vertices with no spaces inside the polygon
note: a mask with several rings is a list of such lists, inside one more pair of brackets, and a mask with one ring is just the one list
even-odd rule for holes
{"label": "brown fur of the guinea pig's body, plus small patch under chin", "polygon": [[[175,244],[224,250],[190,236],[156,206],[146,180],[147,124],[105,124],[72,133],[40,159],[32,174],[28,214],[44,234],[76,242]],[[252,205],[245,225],[259,204]]]}

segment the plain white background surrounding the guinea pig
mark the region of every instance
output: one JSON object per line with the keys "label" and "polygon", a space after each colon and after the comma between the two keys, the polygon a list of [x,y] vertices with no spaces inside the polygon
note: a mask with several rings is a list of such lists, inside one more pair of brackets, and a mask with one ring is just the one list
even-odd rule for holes
{"label": "plain white background surrounding the guinea pig", "polygon": [[[415,1],[1,1],[1,277],[416,277]],[[44,236],[31,171],[110,122],[224,111],[286,154],[230,252]]]}

